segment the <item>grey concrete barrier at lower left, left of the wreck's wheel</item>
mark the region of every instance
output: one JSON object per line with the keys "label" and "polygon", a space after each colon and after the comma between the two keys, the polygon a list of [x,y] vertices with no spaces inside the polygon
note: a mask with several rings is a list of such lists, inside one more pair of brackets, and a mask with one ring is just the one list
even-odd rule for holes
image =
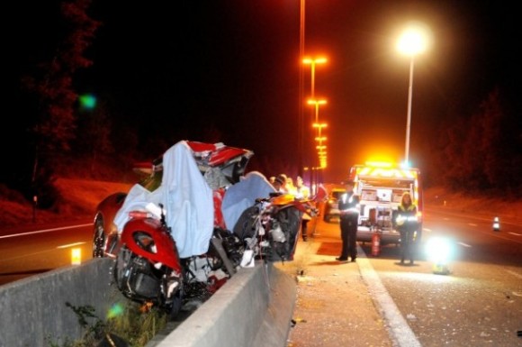
{"label": "grey concrete barrier at lower left, left of the wreck's wheel", "polygon": [[84,331],[66,306],[93,306],[104,319],[114,303],[127,300],[111,285],[113,260],[97,258],[0,286],[0,347],[49,347],[81,339]]}

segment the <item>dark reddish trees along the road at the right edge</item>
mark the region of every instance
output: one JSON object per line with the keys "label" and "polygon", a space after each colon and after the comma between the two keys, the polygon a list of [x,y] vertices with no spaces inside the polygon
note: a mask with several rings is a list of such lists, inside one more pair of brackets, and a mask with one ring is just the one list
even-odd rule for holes
{"label": "dark reddish trees along the road at the right edge", "polygon": [[475,114],[451,114],[432,144],[433,183],[469,195],[519,199],[522,193],[522,117],[495,88]]}

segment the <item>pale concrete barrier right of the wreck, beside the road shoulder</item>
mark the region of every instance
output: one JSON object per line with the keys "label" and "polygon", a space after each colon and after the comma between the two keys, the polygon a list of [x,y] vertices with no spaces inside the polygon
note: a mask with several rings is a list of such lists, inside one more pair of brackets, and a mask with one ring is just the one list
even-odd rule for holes
{"label": "pale concrete barrier right of the wreck, beside the road shoulder", "polygon": [[272,263],[240,269],[175,331],[147,347],[287,345],[295,281]]}

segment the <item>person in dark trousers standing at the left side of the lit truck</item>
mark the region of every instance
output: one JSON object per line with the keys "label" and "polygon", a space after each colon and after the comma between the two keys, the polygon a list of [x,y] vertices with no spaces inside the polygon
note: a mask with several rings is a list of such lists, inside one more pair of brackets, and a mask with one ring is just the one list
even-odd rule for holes
{"label": "person in dark trousers standing at the left side of the lit truck", "polygon": [[347,261],[348,254],[351,261],[357,258],[357,224],[359,223],[359,196],[354,192],[354,181],[345,182],[347,192],[339,198],[339,213],[341,215],[341,240],[343,248],[341,255],[336,258],[339,261]]}

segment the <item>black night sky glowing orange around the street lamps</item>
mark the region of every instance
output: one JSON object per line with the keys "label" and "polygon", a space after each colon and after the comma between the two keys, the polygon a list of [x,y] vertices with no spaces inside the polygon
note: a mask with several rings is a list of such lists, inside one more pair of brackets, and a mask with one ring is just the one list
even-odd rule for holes
{"label": "black night sky glowing orange around the street lamps", "polygon": [[[142,139],[206,141],[205,133],[218,129],[226,144],[297,163],[300,103],[307,132],[312,120],[311,106],[300,100],[300,5],[94,0],[91,16],[103,26],[85,53],[94,66],[78,74],[77,92],[111,105]],[[58,1],[16,6],[15,37],[5,51],[19,78],[49,59]],[[395,43],[406,23],[426,23],[434,38],[416,59],[413,82],[410,161],[422,168],[450,114],[475,113],[497,86],[516,95],[516,15],[514,5],[491,1],[307,0],[305,55],[329,59],[315,76],[316,96],[328,100],[320,107],[320,120],[329,123],[325,180],[345,178],[349,166],[374,153],[403,160],[410,61]],[[19,86],[14,78],[11,90]],[[309,67],[302,88],[310,96]],[[31,114],[13,106],[14,126],[31,123]]]}

